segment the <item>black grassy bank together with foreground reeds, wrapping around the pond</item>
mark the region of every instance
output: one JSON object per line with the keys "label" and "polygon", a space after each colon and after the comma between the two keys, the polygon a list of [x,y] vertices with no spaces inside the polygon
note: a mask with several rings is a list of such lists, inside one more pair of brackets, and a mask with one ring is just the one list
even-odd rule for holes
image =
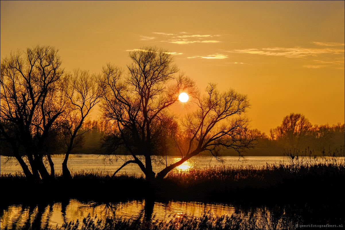
{"label": "black grassy bank together with foreground reeds, wrapping around the pond", "polygon": [[[73,198],[99,203],[128,199],[231,202],[242,210],[230,217],[205,212],[201,217],[183,215],[167,220],[157,220],[152,213],[131,219],[87,217],[60,229],[294,229],[296,224],[339,225],[345,221],[345,169],[338,162],[175,171],[150,185],[136,175],[111,179],[111,172],[77,172],[71,181],[61,175],[56,178],[43,183],[27,181],[21,174],[1,175],[1,187],[6,191],[1,209]],[[258,208],[263,206],[266,208]]]}

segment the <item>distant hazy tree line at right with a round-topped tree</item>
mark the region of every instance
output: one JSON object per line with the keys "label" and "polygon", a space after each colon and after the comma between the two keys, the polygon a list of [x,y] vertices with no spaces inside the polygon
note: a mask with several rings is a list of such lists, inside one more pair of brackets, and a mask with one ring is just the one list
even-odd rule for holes
{"label": "distant hazy tree line at right with a round-topped tree", "polygon": [[252,130],[259,144],[247,154],[264,156],[344,156],[345,124],[313,125],[299,113],[290,113],[269,134]]}

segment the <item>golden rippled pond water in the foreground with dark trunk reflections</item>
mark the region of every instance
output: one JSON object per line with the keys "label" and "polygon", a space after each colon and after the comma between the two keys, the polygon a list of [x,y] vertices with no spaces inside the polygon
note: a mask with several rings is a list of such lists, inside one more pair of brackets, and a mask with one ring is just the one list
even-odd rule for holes
{"label": "golden rippled pond water in the foreground with dark trunk reflections", "polygon": [[107,216],[122,218],[140,218],[149,220],[155,216],[158,220],[170,220],[184,214],[200,217],[204,212],[221,216],[231,216],[235,208],[228,204],[168,201],[156,202],[154,199],[131,200],[127,202],[97,203],[81,202],[76,199],[52,203],[12,205],[1,210],[0,228],[4,229],[46,229],[70,221],[87,217],[104,219]]}

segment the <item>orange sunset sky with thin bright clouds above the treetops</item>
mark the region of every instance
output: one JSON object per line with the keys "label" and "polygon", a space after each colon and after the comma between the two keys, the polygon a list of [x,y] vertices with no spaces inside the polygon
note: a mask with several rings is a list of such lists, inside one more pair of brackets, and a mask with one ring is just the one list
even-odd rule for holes
{"label": "orange sunset sky with thin bright clouds above the treetops", "polygon": [[344,1],[1,1],[0,17],[1,59],[49,45],[66,71],[99,72],[158,46],[201,89],[247,94],[253,128],[344,123]]}

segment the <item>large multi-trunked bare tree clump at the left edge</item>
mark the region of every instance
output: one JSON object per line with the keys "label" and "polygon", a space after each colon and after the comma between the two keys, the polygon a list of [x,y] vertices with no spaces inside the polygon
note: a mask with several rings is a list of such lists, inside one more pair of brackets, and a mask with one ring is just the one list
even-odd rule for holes
{"label": "large multi-trunked bare tree clump at the left edge", "polygon": [[45,156],[53,169],[50,153],[46,152],[47,140],[51,140],[64,108],[60,83],[63,69],[57,52],[53,47],[36,46],[25,53],[11,53],[1,62],[1,136],[10,143],[13,156],[29,178],[50,178],[43,163]]}

